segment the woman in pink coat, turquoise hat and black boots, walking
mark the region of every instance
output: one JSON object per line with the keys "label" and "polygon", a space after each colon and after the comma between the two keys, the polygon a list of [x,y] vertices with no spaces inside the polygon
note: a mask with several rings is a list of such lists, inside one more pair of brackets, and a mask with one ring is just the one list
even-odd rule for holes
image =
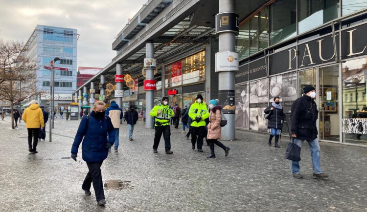
{"label": "woman in pink coat, turquoise hat and black boots, walking", "polygon": [[209,108],[209,124],[207,125],[206,137],[210,147],[210,155],[206,158],[215,158],[214,144],[220,148],[223,148],[225,156],[227,156],[229,153],[229,147],[224,146],[220,141],[218,141],[218,139],[221,138],[222,133],[222,127],[220,123],[222,119],[221,110],[223,107],[218,105],[217,99],[212,99],[209,101]]}

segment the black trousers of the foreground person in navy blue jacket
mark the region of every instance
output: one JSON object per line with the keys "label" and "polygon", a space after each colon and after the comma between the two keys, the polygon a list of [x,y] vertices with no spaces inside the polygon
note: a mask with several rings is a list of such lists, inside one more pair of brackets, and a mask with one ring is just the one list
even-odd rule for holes
{"label": "black trousers of the foreground person in navy blue jacket", "polygon": [[89,171],[82,185],[82,189],[84,191],[90,191],[91,184],[93,183],[95,199],[97,200],[97,202],[101,199],[105,199],[105,193],[103,191],[102,172],[101,172],[102,163],[103,161],[87,162]]}

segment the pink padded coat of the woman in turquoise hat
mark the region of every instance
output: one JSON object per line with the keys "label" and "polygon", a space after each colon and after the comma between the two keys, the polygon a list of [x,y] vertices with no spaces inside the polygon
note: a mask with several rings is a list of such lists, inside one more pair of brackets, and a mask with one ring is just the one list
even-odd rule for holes
{"label": "pink padded coat of the woman in turquoise hat", "polygon": [[221,109],[223,107],[218,105],[210,109],[209,124],[207,126],[207,139],[220,139],[222,133],[221,123]]}

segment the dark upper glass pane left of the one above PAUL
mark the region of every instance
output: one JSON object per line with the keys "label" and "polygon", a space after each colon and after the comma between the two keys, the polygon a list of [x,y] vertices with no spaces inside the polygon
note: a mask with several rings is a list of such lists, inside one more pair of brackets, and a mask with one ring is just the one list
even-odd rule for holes
{"label": "dark upper glass pane left of the one above PAUL", "polygon": [[296,35],[296,1],[276,0],[269,6],[270,45]]}

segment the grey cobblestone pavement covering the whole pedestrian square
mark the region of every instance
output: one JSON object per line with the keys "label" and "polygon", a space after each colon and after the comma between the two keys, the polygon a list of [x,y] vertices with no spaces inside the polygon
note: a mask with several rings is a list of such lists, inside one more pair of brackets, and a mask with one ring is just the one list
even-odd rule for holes
{"label": "grey cobblestone pavement covering the whole pedestrian square", "polygon": [[286,138],[282,148],[274,148],[266,134],[236,131],[239,140],[223,142],[230,147],[228,157],[216,147],[217,158],[206,159],[208,147],[204,153],[193,151],[181,130],[172,127],[174,153],[164,153],[162,139],[154,154],[154,130],[140,122],[133,141],[127,125],[121,125],[119,151],[102,165],[104,182],[130,185],[106,189],[107,203],[100,207],[93,190],[92,196],[81,190],[86,164],[68,158],[79,121],[56,121],[53,141],[47,133],[39,153],[30,154],[24,123],[9,129],[10,118],[0,120],[1,211],[367,211],[367,148],[321,142],[321,169],[330,177],[315,180],[304,144],[304,178],[295,179],[289,161],[282,159]]}

